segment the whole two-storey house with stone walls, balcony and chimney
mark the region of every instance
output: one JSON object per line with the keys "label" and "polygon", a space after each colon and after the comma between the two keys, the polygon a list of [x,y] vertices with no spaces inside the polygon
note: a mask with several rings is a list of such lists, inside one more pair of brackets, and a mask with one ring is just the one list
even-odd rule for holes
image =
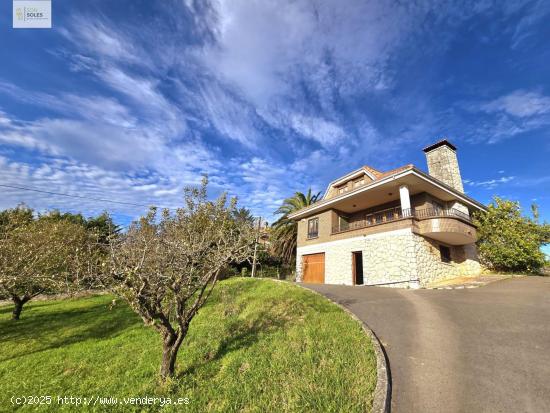
{"label": "whole two-storey house with stone walls, balcony and chimney", "polygon": [[418,288],[479,274],[471,217],[486,208],[464,194],[453,144],[424,152],[429,174],[363,166],[290,215],[298,221],[297,281]]}

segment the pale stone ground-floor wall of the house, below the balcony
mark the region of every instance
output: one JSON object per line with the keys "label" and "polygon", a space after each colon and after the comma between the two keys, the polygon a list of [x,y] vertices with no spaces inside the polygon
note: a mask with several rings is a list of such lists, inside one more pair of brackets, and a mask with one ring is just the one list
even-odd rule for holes
{"label": "pale stone ground-floor wall of the house, below the balcony", "polygon": [[417,288],[430,282],[481,271],[475,244],[448,246],[451,262],[441,260],[434,240],[415,234],[411,227],[359,235],[298,247],[296,274],[301,281],[302,256],[325,253],[325,283],[353,284],[352,253],[363,253],[366,285]]}

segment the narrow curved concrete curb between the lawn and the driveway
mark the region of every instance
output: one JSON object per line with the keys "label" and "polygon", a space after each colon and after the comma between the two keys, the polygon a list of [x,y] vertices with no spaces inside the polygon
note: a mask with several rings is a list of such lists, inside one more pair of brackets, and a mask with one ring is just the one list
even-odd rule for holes
{"label": "narrow curved concrete curb between the lawn and the driveway", "polygon": [[[285,282],[282,280],[273,280],[279,282]],[[351,318],[361,324],[363,331],[371,339],[372,346],[374,348],[374,353],[376,355],[376,388],[374,389],[374,398],[372,401],[372,412],[373,413],[389,413],[391,409],[391,374],[389,369],[388,357],[384,351],[382,343],[374,334],[374,331],[363,321],[360,320],[355,314],[350,310],[344,307],[342,304],[328,298],[326,295],[323,295],[315,290],[309,289],[300,285],[298,283],[292,283],[293,285],[303,288],[304,290],[310,291],[314,294],[317,294],[320,297],[323,297],[326,300],[329,300],[331,303],[337,305],[342,310],[344,310]]]}

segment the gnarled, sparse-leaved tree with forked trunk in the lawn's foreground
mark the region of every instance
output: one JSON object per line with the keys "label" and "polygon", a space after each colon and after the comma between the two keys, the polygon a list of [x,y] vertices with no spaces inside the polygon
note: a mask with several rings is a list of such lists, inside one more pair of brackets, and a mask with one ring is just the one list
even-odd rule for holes
{"label": "gnarled, sparse-leaved tree with forked trunk in the lawn's foreground", "polygon": [[163,342],[161,378],[172,377],[189,324],[231,262],[250,258],[254,231],[235,219],[236,199],[210,202],[207,179],[185,189],[174,214],[152,208],[111,243],[106,285],[124,298]]}

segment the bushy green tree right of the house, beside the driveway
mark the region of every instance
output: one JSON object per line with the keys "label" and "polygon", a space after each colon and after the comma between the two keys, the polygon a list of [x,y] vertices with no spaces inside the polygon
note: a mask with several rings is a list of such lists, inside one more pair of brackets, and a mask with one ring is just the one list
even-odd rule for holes
{"label": "bushy green tree right of the house, beside the driveway", "polygon": [[479,255],[487,267],[533,273],[544,266],[541,246],[549,242],[549,225],[522,216],[518,202],[495,197],[487,212],[476,215],[475,223]]}

